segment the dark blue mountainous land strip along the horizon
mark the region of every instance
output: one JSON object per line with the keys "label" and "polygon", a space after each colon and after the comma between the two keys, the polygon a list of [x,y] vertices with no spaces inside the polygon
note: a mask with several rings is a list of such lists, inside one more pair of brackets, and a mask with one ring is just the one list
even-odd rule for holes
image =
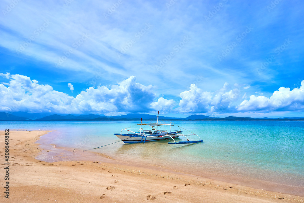
{"label": "dark blue mountainous land strip along the horizon", "polygon": [[[153,120],[156,115],[151,114],[126,114],[122,116],[105,116],[97,114],[72,115],[51,113],[27,113],[27,112],[0,112],[0,121],[144,121]],[[209,117],[204,115],[191,115],[186,118],[160,116],[167,121],[304,121],[304,117],[283,118],[250,118],[228,116],[225,118]]]}

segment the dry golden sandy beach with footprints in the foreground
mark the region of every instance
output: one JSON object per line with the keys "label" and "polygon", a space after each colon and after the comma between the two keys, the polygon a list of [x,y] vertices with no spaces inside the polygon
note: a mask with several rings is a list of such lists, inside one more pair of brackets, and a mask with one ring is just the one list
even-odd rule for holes
{"label": "dry golden sandy beach with footprints in the foreground", "polygon": [[304,197],[123,165],[105,157],[94,160],[93,155],[78,161],[39,161],[35,157],[43,149],[35,142],[48,131],[9,132],[7,199],[4,133],[0,131],[1,202],[304,202]]}

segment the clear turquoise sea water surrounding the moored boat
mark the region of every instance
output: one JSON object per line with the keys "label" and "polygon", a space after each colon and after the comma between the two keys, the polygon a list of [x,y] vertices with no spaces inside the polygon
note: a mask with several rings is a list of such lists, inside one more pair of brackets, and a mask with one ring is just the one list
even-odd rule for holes
{"label": "clear turquoise sea water surrounding the moored boat", "polygon": [[[50,130],[53,132],[38,142],[85,150],[119,141],[113,133],[137,123],[2,121],[0,129]],[[230,183],[304,195],[303,121],[174,123],[200,135],[204,142],[193,145],[168,145],[168,141],[118,142],[92,151],[134,164],[162,166]]]}

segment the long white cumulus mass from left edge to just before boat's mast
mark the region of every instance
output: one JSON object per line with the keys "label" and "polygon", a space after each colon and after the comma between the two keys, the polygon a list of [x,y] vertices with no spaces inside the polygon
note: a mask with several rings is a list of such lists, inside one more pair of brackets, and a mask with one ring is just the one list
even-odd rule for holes
{"label": "long white cumulus mass from left edge to just before boat's mast", "polygon": [[0,110],[6,112],[147,112],[155,98],[153,86],[137,83],[135,76],[110,89],[90,87],[76,97],[55,91],[49,85],[39,85],[37,80],[24,75],[9,75],[9,79],[5,83],[8,87],[0,84]]}

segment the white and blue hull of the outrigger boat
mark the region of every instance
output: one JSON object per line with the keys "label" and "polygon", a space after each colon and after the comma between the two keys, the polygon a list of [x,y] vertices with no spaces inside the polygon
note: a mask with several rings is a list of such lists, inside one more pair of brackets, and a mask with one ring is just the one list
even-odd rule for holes
{"label": "white and blue hull of the outrigger boat", "polygon": [[169,136],[153,136],[153,137],[143,137],[143,136],[128,136],[127,134],[114,134],[119,139],[121,139],[124,143],[130,144],[130,143],[140,143],[140,142],[150,142],[150,141],[158,141],[158,140],[165,140],[165,139],[172,139],[177,138],[177,135],[172,135],[172,138]]}

